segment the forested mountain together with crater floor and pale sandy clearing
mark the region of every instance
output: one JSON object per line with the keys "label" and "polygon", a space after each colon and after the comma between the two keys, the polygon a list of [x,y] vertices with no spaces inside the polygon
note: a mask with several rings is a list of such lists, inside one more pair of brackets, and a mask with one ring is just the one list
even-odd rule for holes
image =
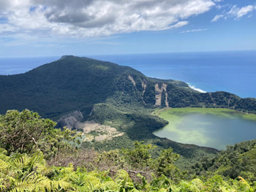
{"label": "forested mountain together with crater floor and pale sandy clearing", "polygon": [[256,112],[256,99],[226,92],[199,93],[184,82],[158,80],[128,66],[72,55],[25,74],[1,75],[0,99],[1,114],[29,109],[43,118],[59,120],[59,126],[85,130],[91,123],[98,129],[88,131],[86,137],[92,139],[84,147],[110,150],[132,147],[134,140],[143,140],[161,149],[173,147],[187,159],[217,151],[154,136],[152,132],[167,123],[151,115],[156,107],[225,107]]}

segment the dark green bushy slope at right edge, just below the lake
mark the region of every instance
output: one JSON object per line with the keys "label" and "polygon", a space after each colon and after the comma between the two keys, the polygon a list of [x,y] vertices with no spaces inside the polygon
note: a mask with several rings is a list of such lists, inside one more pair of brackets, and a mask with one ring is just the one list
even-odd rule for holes
{"label": "dark green bushy slope at right edge, just below the lake", "polygon": [[212,159],[203,158],[192,166],[197,175],[221,174],[225,177],[243,177],[256,183],[256,139],[227,146]]}

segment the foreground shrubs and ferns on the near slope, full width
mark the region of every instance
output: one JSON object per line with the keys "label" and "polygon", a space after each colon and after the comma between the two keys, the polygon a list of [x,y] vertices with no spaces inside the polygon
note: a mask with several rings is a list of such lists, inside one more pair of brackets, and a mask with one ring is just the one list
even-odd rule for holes
{"label": "foreground shrubs and ferns on the near slope, full width", "polygon": [[[18,123],[15,124],[14,119],[18,120]],[[29,110],[9,111],[1,116],[0,123],[0,134],[5,134],[6,138],[12,137],[13,132],[31,133],[39,125],[43,130],[53,129],[53,122],[39,118],[37,113]],[[7,132],[6,128],[10,128],[10,131]],[[66,130],[59,130],[59,134],[63,136],[66,135],[65,132]],[[50,132],[50,136],[54,134]],[[23,141],[23,137],[20,134],[16,137],[16,142]],[[61,142],[64,142],[67,138],[62,139]],[[0,191],[3,192],[256,190],[256,140],[230,147],[211,161],[200,161],[201,164],[195,164],[190,174],[181,172],[176,167],[174,163],[179,155],[173,153],[171,148],[162,150],[153,158],[154,145],[143,145],[143,142],[135,142],[133,149],[102,153],[92,149],[77,149],[75,145],[66,142],[66,145],[57,147],[55,155],[48,155],[45,158],[44,154],[48,153],[42,147],[38,147],[37,142],[31,142],[30,147],[33,150],[20,150],[18,147],[10,148],[7,142],[3,141],[0,140],[3,147],[0,148]],[[54,143],[53,140],[48,142]],[[67,153],[67,146],[72,149],[72,153]],[[233,154],[237,154],[238,159],[229,158]],[[246,161],[241,162],[239,158]],[[236,161],[240,161],[243,166],[236,164]],[[225,164],[217,167],[220,162]],[[238,172],[230,170],[237,168]],[[246,180],[241,175],[246,177]]]}

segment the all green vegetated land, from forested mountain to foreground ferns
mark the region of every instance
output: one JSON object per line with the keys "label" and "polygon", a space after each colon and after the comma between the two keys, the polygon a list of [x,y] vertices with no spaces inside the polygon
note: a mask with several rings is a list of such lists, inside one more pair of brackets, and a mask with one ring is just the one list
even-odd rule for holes
{"label": "all green vegetated land, from forested mountain to foreground ferns", "polygon": [[[1,114],[29,109],[59,120],[78,110],[82,121],[107,124],[124,135],[84,142],[78,150],[80,136],[74,131],[56,129],[52,120],[29,110],[8,111],[0,116],[0,191],[255,191],[255,145],[248,143],[251,147],[243,153],[228,148],[216,155],[211,148],[152,134],[167,124],[152,114],[155,85],[162,88],[162,83],[167,90],[160,93],[159,107],[167,99],[169,107],[256,113],[256,99],[198,93],[184,82],[148,78],[130,67],[91,58],[65,56],[25,74],[1,75]],[[226,153],[230,157],[223,158]]]}

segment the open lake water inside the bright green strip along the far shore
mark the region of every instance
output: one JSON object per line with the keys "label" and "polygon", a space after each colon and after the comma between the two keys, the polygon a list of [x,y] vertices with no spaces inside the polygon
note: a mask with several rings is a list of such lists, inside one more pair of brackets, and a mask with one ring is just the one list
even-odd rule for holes
{"label": "open lake water inside the bright green strip along the far shore", "polygon": [[256,139],[256,121],[246,120],[236,115],[203,114],[198,112],[176,114],[165,128],[155,131],[158,137],[166,137],[176,142],[214,147],[224,150],[227,145]]}

